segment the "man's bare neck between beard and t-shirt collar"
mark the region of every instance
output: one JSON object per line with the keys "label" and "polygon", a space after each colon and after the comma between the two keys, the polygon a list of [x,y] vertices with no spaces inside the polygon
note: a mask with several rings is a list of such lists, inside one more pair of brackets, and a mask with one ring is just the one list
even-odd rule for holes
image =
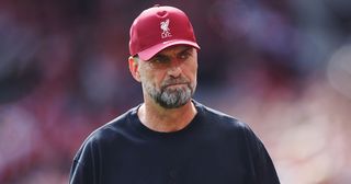
{"label": "man's bare neck between beard and t-shirt collar", "polygon": [[191,101],[178,108],[163,108],[146,101],[138,110],[138,117],[146,127],[155,131],[171,133],[183,129],[196,113]]}

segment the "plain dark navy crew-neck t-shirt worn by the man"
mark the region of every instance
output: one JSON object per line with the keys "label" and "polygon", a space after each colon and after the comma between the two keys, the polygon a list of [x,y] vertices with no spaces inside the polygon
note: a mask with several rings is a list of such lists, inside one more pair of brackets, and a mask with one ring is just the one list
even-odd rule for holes
{"label": "plain dark navy crew-neck t-shirt worn by the man", "polygon": [[137,108],[93,131],[70,172],[71,184],[278,184],[262,142],[244,123],[193,101],[183,129],[145,127]]}

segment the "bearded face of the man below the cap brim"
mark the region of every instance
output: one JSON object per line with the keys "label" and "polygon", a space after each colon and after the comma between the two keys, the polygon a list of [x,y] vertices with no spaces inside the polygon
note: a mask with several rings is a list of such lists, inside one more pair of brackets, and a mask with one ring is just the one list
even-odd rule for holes
{"label": "bearded face of the man below the cap brim", "polygon": [[139,61],[143,92],[165,108],[185,105],[196,88],[197,53],[190,46],[169,47]]}

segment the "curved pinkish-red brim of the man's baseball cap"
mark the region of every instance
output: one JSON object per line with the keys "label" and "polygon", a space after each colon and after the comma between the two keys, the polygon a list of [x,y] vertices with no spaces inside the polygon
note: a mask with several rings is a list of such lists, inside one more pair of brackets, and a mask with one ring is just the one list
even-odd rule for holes
{"label": "curved pinkish-red brim of the man's baseball cap", "polygon": [[194,42],[184,41],[184,39],[172,39],[172,41],[168,41],[168,42],[163,42],[163,43],[154,45],[150,48],[147,48],[143,51],[139,51],[138,56],[143,60],[149,60],[149,59],[151,59],[151,57],[154,57],[159,51],[161,51],[165,48],[168,48],[170,46],[174,46],[174,45],[189,45],[189,46],[195,47],[196,49],[200,49],[200,46]]}

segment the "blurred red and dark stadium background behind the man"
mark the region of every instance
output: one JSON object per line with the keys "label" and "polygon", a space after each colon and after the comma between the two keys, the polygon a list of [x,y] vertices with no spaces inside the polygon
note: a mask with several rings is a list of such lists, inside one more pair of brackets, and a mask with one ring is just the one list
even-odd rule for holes
{"label": "blurred red and dark stadium background behind the man", "polygon": [[128,31],[155,3],[193,22],[194,99],[249,124],[282,183],[351,183],[349,0],[0,0],[0,183],[68,183],[83,139],[143,101]]}

